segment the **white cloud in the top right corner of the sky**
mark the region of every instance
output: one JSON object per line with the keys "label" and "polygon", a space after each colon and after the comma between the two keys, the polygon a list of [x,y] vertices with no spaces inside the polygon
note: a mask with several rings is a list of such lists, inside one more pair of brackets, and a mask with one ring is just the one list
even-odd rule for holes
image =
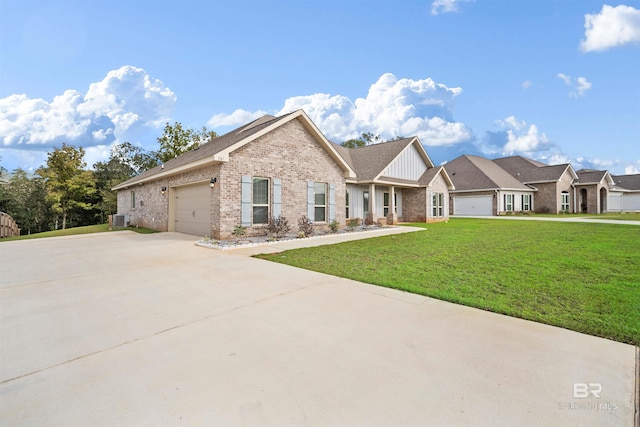
{"label": "white cloud in the top right corner of the sky", "polygon": [[640,10],[631,6],[602,6],[599,14],[584,16],[583,52],[598,52],[640,42]]}

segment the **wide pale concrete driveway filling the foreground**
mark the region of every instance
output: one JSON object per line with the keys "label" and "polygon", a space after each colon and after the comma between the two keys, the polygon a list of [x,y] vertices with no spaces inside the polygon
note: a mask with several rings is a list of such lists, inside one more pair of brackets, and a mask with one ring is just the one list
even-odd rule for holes
{"label": "wide pale concrete driveway filling the foreground", "polygon": [[194,239],[0,243],[0,425],[634,424],[633,346]]}

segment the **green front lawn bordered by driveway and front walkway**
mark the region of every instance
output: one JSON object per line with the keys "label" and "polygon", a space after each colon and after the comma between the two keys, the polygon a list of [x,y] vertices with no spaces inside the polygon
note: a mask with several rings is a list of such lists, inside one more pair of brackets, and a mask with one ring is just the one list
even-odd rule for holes
{"label": "green front lawn bordered by driveway and front walkway", "polygon": [[640,345],[640,227],[454,218],[260,258]]}

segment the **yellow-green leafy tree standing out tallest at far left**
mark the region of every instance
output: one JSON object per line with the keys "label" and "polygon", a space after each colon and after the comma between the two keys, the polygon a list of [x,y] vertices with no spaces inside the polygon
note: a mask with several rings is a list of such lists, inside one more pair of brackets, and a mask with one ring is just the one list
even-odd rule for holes
{"label": "yellow-green leafy tree standing out tallest at far left", "polygon": [[[67,217],[74,210],[93,208],[92,197],[96,192],[94,176],[84,170],[84,149],[62,144],[47,154],[47,165],[37,170],[47,188],[47,199],[53,211],[62,215],[62,229],[67,227]],[[58,217],[55,219],[58,228]]]}

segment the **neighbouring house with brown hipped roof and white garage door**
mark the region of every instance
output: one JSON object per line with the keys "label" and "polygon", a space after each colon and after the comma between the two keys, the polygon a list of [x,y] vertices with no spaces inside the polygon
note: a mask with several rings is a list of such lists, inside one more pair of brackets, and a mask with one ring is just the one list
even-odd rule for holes
{"label": "neighbouring house with brown hipped roof and white garage door", "polygon": [[503,215],[535,208],[536,189],[489,159],[462,155],[444,168],[455,186],[449,191],[453,215]]}

